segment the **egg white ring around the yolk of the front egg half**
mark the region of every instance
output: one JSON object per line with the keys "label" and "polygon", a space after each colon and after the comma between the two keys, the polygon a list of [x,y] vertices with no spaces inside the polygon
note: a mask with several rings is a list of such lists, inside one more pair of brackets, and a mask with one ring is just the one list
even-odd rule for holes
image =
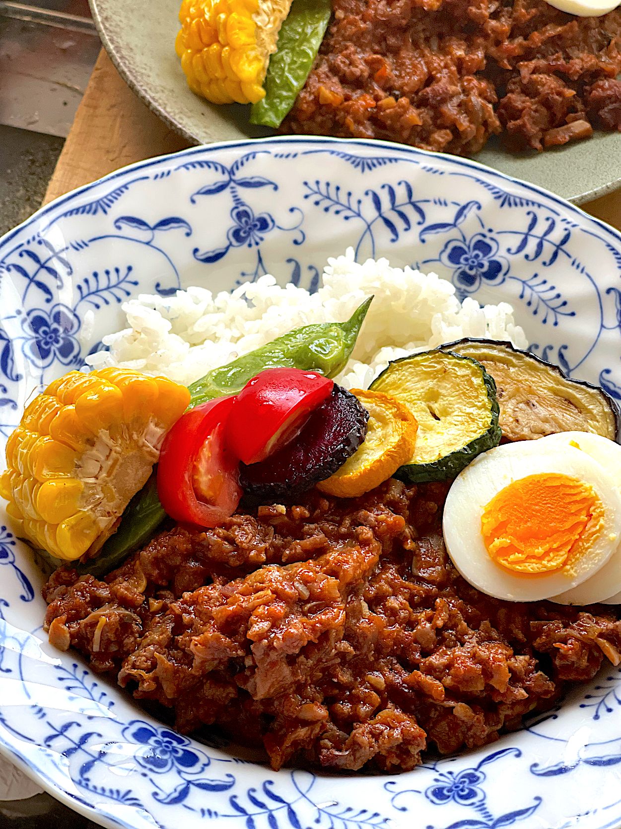
{"label": "egg white ring around the yolk of the front egg half", "polygon": [[[585,482],[604,507],[602,531],[575,562],[572,574],[562,570],[512,574],[492,560],[484,544],[484,507],[510,483],[541,473],[560,473]],[[512,602],[549,599],[582,584],[614,554],[621,541],[621,493],[614,478],[580,449],[546,445],[543,439],[503,444],[480,454],[455,478],[446,497],[442,529],[453,564],[482,593]]]}

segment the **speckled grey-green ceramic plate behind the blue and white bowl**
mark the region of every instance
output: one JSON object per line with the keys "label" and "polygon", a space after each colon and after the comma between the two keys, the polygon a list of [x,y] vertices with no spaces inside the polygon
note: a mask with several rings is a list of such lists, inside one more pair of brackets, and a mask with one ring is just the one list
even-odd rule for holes
{"label": "speckled grey-green ceramic plate behind the blue and white bowl", "polygon": [[[271,135],[248,124],[248,106],[214,106],[188,89],[175,54],[181,0],[89,0],[108,55],[154,113],[190,142]],[[546,150],[509,154],[493,138],[475,160],[582,204],[621,187],[621,133]]]}

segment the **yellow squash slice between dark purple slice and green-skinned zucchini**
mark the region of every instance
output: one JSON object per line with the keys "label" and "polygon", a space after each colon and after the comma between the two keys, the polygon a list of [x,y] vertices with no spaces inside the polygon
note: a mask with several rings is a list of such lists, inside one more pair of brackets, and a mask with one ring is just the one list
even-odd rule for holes
{"label": "yellow squash slice between dark purple slice and green-skinned zucchini", "polygon": [[368,411],[367,436],[338,472],[317,484],[321,492],[339,498],[357,498],[392,478],[412,458],[418,429],[411,411],[391,395],[351,392]]}

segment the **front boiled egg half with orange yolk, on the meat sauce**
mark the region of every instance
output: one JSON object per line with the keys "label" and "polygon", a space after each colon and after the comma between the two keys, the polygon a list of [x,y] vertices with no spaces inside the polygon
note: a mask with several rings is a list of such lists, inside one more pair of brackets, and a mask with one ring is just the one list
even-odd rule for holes
{"label": "front boiled egg half with orange yolk, on the meat sauce", "polygon": [[455,478],[443,531],[475,588],[508,601],[549,599],[590,579],[617,550],[621,493],[571,444],[503,444]]}

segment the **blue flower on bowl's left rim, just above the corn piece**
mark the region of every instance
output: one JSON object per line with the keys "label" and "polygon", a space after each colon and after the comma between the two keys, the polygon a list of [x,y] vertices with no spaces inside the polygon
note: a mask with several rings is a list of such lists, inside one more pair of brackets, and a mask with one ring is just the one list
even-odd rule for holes
{"label": "blue flower on bowl's left rim, just above the corn piece", "polygon": [[31,308],[22,321],[26,337],[22,345],[24,356],[38,368],[47,368],[58,360],[70,366],[79,358],[79,342],[75,334],[80,326],[79,317],[60,303],[47,313],[43,308]]}

